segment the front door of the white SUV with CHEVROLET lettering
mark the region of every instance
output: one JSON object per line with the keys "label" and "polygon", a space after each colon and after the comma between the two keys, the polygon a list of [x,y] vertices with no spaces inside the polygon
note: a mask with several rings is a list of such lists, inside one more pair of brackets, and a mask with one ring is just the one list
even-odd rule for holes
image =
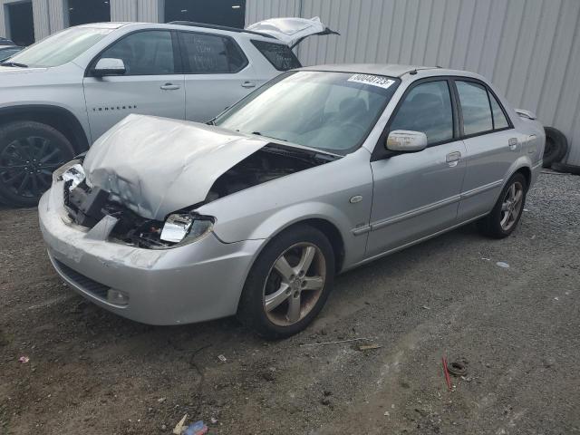
{"label": "front door of the white SUV with CHEVROLET lettering", "polygon": [[[92,140],[130,113],[184,119],[184,79],[173,40],[166,30],[127,34],[92,61],[83,81]],[[106,58],[121,59],[125,73],[92,76],[94,65]]]}

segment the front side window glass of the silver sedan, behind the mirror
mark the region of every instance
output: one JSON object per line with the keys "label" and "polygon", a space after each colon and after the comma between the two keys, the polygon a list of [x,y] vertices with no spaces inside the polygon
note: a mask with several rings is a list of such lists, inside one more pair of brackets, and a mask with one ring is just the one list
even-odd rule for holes
{"label": "front side window glass of the silver sedan, behind the mirror", "polygon": [[433,145],[453,139],[453,111],[446,81],[425,82],[411,89],[391,122],[390,131],[421,131]]}

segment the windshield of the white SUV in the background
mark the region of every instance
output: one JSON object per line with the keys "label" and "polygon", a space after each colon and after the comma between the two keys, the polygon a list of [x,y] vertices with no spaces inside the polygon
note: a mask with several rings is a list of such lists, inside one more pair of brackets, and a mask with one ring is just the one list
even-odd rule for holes
{"label": "windshield of the white SUV in the background", "polygon": [[71,62],[114,29],[73,27],[43,39],[16,54],[10,62],[30,67],[51,67]]}

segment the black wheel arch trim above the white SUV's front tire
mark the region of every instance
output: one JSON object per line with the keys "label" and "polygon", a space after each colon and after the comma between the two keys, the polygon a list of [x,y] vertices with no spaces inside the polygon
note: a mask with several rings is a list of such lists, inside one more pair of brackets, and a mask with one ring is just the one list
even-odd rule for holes
{"label": "black wheel arch trim above the white SUV's front tire", "polygon": [[39,121],[61,131],[77,152],[89,149],[87,132],[72,111],[50,104],[22,104],[0,108],[0,120]]}

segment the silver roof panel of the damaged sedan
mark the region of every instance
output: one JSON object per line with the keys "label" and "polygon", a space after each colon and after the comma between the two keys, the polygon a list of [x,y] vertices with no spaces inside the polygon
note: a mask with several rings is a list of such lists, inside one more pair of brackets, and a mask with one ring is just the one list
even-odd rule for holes
{"label": "silver roof panel of the damaged sedan", "polygon": [[397,63],[343,63],[331,65],[314,65],[300,68],[301,71],[329,71],[337,73],[359,73],[402,77],[405,74],[418,72],[421,75],[462,75],[475,77],[477,74],[459,70],[442,69],[439,66],[401,65]]}

